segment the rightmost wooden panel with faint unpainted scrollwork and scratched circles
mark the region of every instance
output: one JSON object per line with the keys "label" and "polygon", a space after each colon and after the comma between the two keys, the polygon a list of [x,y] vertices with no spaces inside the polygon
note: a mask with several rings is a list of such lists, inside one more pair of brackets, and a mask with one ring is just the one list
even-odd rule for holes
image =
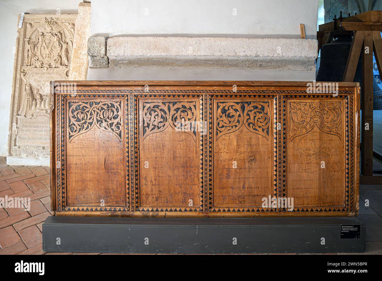
{"label": "rightmost wooden panel with faint unpainted scrollwork and scratched circles", "polygon": [[285,98],[287,197],[296,208],[349,208],[348,100]]}

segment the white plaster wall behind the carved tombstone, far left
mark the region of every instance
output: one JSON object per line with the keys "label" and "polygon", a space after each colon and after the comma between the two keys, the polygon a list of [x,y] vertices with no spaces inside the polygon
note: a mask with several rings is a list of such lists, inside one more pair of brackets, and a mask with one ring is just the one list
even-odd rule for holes
{"label": "white plaster wall behind the carved tombstone, far left", "polygon": [[[13,60],[18,27],[18,15],[76,14],[80,0],[1,0],[0,1],[0,156],[6,156],[11,107]],[[59,9],[59,10],[57,10]]]}

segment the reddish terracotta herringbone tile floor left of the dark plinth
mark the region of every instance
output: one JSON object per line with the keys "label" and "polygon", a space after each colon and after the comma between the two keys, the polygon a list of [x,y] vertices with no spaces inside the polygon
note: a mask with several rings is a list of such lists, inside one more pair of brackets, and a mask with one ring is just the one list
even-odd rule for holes
{"label": "reddish terracotta herringbone tile floor left of the dark plinth", "polygon": [[0,254],[44,254],[42,222],[50,213],[49,167],[8,166],[0,157],[0,197],[31,198],[30,210],[0,207]]}

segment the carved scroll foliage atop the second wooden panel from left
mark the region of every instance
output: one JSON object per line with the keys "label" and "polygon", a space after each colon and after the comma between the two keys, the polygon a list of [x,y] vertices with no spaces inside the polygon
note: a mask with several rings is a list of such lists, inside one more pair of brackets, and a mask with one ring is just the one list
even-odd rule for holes
{"label": "carved scroll foliage atop the second wooden panel from left", "polygon": [[192,125],[196,121],[196,102],[144,102],[142,114],[143,139],[164,131],[168,125],[196,139]]}

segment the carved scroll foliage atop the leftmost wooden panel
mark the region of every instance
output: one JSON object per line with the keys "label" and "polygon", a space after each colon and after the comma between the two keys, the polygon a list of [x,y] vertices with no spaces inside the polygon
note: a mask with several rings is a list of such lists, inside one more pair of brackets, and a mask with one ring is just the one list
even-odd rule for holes
{"label": "carved scroll foliage atop the leftmost wooden panel", "polygon": [[94,124],[122,140],[121,101],[70,101],[69,142],[89,131]]}

